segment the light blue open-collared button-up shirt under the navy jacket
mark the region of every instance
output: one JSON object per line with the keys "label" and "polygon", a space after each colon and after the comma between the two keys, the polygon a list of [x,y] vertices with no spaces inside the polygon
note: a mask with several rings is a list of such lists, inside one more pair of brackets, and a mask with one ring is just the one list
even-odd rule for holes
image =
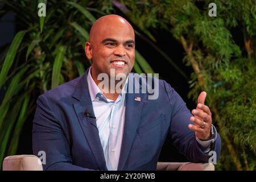
{"label": "light blue open-collared button-up shirt under the navy jacket", "polygon": [[125,97],[127,90],[126,78],[121,94],[117,100],[109,100],[90,75],[87,76],[90,98],[96,117],[96,124],[104,151],[106,166],[109,170],[117,170],[125,124]]}

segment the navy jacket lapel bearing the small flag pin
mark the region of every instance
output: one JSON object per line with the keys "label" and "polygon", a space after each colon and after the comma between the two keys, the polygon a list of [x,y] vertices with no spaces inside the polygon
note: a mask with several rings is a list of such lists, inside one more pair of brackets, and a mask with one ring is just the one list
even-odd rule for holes
{"label": "navy jacket lapel bearing the small flag pin", "polygon": [[[129,80],[131,78],[133,77],[129,76]],[[127,90],[129,90],[129,88],[127,88]],[[123,170],[126,160],[130,154],[131,146],[133,144],[137,127],[141,118],[143,101],[146,99],[146,95],[147,94],[139,93],[126,94],[125,126],[123,128],[123,139],[119,156],[118,170]],[[135,98],[138,97],[141,98],[141,101],[138,101],[138,99],[135,100]]]}

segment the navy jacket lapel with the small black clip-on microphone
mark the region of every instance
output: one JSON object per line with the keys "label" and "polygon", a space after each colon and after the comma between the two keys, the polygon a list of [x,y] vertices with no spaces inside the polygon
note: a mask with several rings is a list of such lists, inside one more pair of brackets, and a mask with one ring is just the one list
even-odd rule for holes
{"label": "navy jacket lapel with the small black clip-on microphone", "polygon": [[84,116],[85,109],[88,109],[94,115],[92,101],[90,99],[88,84],[86,80],[88,71],[89,69],[87,69],[84,76],[82,76],[79,82],[77,82],[73,97],[75,97],[78,101],[73,104],[73,107],[76,111],[77,117],[79,118],[82,131],[87,142],[89,143],[89,147],[92,150],[92,154],[98,167],[101,170],[108,170],[106,167],[100,137],[98,135],[96,119]]}

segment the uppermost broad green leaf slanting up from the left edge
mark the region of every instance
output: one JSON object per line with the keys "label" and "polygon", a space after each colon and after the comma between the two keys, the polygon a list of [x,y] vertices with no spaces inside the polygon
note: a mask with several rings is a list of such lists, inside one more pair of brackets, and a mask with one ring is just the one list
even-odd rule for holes
{"label": "uppermost broad green leaf slanting up from the left edge", "polygon": [[0,73],[0,88],[2,88],[3,84],[6,82],[6,77],[9,72],[9,69],[11,68],[11,65],[13,64],[17,49],[19,47],[19,44],[22,42],[22,39],[25,35],[26,31],[20,31],[18,34],[15,35],[13,42],[11,42],[11,46],[6,53],[5,61],[3,62],[3,67],[1,69]]}

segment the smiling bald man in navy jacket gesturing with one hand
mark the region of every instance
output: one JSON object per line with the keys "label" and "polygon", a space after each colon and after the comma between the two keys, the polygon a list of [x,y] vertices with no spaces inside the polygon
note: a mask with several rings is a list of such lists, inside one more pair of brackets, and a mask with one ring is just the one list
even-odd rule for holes
{"label": "smiling bald man in navy jacket gesturing with one hand", "polygon": [[[126,87],[121,86],[121,90],[135,85],[141,90],[142,83],[150,79],[140,76],[134,80],[134,73],[130,73],[135,40],[134,30],[125,19],[106,15],[96,20],[85,53],[92,60],[92,67],[83,76],[38,98],[32,131],[33,152],[34,155],[45,152],[44,170],[155,170],[167,137],[191,162],[208,162],[209,151],[215,151],[217,159],[220,157],[221,139],[212,126],[210,109],[204,105],[205,92],[200,94],[193,116],[179,94],[157,78],[152,78],[158,89],[156,99],[148,99],[152,95],[148,92],[120,93],[100,88],[98,76],[106,73],[111,79],[113,69],[114,77],[129,75],[126,82],[123,80]],[[92,84],[93,89],[100,90],[95,92],[97,103],[92,97]],[[106,104],[113,104],[110,107],[113,109],[117,101],[121,104],[111,110],[111,117],[102,119],[105,112],[100,117],[97,115]],[[114,135],[110,122],[122,126]],[[113,139],[118,142],[112,142]],[[117,155],[112,155],[115,150],[110,146],[116,147]]]}

